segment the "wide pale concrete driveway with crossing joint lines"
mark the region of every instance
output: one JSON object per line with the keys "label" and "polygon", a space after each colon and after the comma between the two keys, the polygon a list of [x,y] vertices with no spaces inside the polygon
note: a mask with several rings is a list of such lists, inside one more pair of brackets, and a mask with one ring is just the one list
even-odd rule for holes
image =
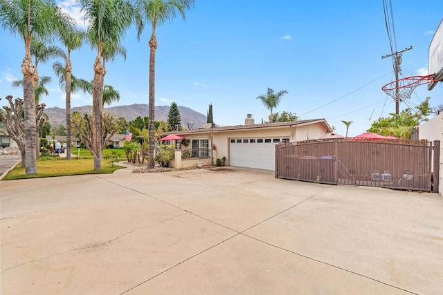
{"label": "wide pale concrete driveway with crossing joint lines", "polygon": [[2,181],[1,294],[441,294],[443,198],[199,169]]}

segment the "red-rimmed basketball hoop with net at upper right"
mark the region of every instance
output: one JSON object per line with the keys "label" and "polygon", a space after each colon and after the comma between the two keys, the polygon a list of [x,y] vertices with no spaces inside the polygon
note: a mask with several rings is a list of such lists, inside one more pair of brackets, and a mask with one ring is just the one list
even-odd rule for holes
{"label": "red-rimmed basketball hoop with net at upper right", "polygon": [[427,75],[427,76],[412,76],[401,78],[386,84],[381,87],[381,90],[384,91],[387,95],[392,97],[395,102],[403,102],[406,99],[410,98],[410,95],[413,93],[415,87],[429,84],[431,82],[437,82],[437,79],[434,79],[435,75]]}

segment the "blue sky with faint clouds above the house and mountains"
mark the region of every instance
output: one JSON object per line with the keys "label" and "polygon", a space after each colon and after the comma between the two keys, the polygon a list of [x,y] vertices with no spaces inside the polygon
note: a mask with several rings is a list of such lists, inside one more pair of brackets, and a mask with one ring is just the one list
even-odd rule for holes
{"label": "blue sky with faint clouds above the house and mountains", "polygon": [[[80,18],[75,1],[57,3]],[[400,77],[426,75],[441,8],[441,0],[392,0],[397,50],[413,46],[402,55]],[[147,26],[138,42],[134,28],[128,30],[123,41],[127,59],[107,64],[105,84],[120,92],[114,105],[148,103],[150,33]],[[381,0],[196,0],[186,21],[174,19],[156,33],[156,106],[175,101],[206,115],[212,103],[215,123],[221,126],[244,124],[247,113],[260,123],[269,111],[256,97],[268,87],[284,89],[288,94],[274,112],[291,111],[302,120],[325,118],[343,135],[341,120],[352,121],[349,136],[395,113],[395,102],[381,91],[395,79],[392,59],[381,59],[390,54]],[[23,97],[21,89],[10,86],[23,77],[23,42],[0,29],[0,43],[0,97]],[[86,45],[71,56],[73,74],[93,79],[96,51]],[[52,64],[39,65],[40,76],[53,77],[50,95],[42,101],[64,108]],[[400,109],[427,96],[431,105],[443,104],[442,84],[433,91],[420,86]],[[90,105],[91,100],[77,93],[72,106]]]}

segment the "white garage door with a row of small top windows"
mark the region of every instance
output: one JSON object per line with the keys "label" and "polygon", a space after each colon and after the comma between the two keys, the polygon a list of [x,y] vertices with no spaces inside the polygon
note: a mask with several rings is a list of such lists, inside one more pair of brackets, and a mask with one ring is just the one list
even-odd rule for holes
{"label": "white garage door with a row of small top windows", "polygon": [[230,166],[275,169],[275,144],[287,138],[231,138]]}

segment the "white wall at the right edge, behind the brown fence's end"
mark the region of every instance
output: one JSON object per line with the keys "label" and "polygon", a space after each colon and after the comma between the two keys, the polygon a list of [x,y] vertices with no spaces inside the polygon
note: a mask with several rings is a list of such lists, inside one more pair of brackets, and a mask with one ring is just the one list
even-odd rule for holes
{"label": "white wall at the right edge, behind the brown fence's end", "polygon": [[440,178],[438,191],[443,196],[443,113],[419,126],[419,139],[433,142],[440,140]]}

